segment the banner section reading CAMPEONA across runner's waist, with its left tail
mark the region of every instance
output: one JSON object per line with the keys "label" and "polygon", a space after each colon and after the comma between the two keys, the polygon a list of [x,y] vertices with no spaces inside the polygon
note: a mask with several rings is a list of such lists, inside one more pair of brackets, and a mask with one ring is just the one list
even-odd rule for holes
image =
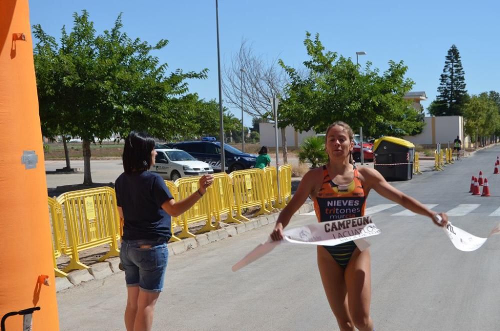
{"label": "banner section reading CAMPEONA across runner's waist, with its left tail", "polygon": [[285,241],[272,241],[269,238],[234,264],[231,269],[232,271],[239,270],[243,266],[267,254],[281,242],[334,246],[342,242],[354,240],[358,248],[364,250],[369,246],[369,243],[362,238],[379,233],[380,230],[371,221],[371,216],[330,220],[294,227],[283,231]]}

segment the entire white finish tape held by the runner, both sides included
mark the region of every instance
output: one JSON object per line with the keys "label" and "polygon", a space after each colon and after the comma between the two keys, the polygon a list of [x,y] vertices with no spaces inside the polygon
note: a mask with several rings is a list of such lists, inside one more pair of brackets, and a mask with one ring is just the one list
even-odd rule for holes
{"label": "entire white finish tape held by the runner, both sides included", "polygon": [[[500,223],[497,224],[485,238],[470,234],[452,225],[450,222],[443,227],[443,231],[447,234],[456,249],[461,251],[473,251],[481,247],[491,235],[500,233]],[[371,216],[331,220],[294,227],[283,231],[284,240],[272,241],[271,238],[269,238],[266,242],[259,244],[245,257],[234,264],[231,269],[232,271],[241,269],[243,266],[248,265],[270,252],[278,244],[284,242],[334,246],[342,242],[353,240],[359,250],[362,251],[369,247],[369,242],[363,238],[376,234],[380,234],[380,229],[371,221]]]}

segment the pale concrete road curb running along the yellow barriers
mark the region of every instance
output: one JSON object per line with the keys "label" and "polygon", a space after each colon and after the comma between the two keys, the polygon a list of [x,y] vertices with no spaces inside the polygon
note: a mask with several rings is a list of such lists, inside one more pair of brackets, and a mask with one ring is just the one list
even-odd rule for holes
{"label": "pale concrete road curb running along the yellow barriers", "polygon": [[[314,209],[312,202],[305,202],[295,214],[310,212]],[[174,241],[167,244],[168,256],[179,255],[187,250],[195,249],[207,245],[211,242],[220,241],[228,237],[235,237],[238,234],[259,228],[265,225],[273,224],[279,213],[260,215],[250,219],[247,222],[229,225],[226,224],[217,230],[197,234],[195,238],[186,238],[180,241]],[[80,285],[82,282],[95,279],[104,279],[115,273],[123,272],[118,268],[119,257],[112,257],[104,262],[90,265],[89,269],[74,270],[68,273],[67,277],[55,277],[55,291],[59,292]]]}

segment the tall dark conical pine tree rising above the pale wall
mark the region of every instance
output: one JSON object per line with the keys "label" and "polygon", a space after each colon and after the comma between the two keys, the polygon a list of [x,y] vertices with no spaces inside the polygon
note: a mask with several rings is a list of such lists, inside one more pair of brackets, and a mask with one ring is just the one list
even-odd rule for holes
{"label": "tall dark conical pine tree rising above the pale wall", "polygon": [[430,104],[429,113],[435,116],[461,115],[468,95],[458,48],[451,45],[445,58],[438,95]]}

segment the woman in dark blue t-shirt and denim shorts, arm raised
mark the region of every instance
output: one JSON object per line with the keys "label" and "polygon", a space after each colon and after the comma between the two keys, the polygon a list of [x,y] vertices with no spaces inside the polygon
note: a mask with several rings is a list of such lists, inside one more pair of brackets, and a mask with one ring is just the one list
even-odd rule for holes
{"label": "woman in dark blue t-shirt and denim shorts, arm raised", "polygon": [[198,190],[176,202],[163,178],[148,171],[155,156],[150,136],[130,132],[123,147],[124,172],[115,182],[118,213],[124,220],[120,262],[127,286],[127,331],[151,329],[154,304],[163,289],[170,216],[189,209],[213,182],[212,175],[202,176]]}

